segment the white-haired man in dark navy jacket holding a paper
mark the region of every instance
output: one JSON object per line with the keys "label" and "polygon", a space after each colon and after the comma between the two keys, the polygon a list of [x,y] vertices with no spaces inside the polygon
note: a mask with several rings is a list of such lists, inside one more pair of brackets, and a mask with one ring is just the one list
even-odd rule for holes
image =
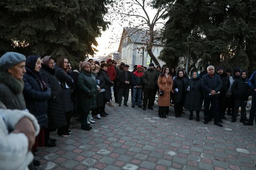
{"label": "white-haired man in dark navy jacket holding a paper", "polygon": [[201,86],[203,89],[204,95],[204,124],[208,124],[209,121],[209,107],[211,103],[213,117],[214,117],[214,124],[220,127],[223,127],[222,124],[219,122],[219,102],[218,97],[220,89],[222,87],[222,82],[220,76],[214,73],[214,67],[212,65],[208,66],[207,68],[208,74],[205,74],[201,79]]}

